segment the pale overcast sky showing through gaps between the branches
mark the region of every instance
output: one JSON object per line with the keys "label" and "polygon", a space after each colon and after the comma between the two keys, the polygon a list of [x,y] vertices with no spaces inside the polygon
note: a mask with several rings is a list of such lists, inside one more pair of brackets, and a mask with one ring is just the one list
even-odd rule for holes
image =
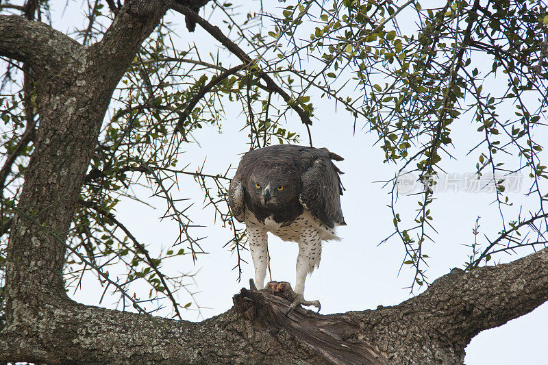
{"label": "pale overcast sky showing through gaps between the branches", "polygon": [[[65,1],[59,3],[62,5]],[[77,5],[71,5],[72,8],[62,16],[62,23],[58,21],[62,15],[60,10],[53,10],[57,29],[64,31],[71,25],[82,24],[83,20],[80,23],[75,21],[81,16],[82,10],[79,9],[79,2],[74,4]],[[180,24],[182,16],[171,15],[171,20]],[[188,34],[184,27],[179,26],[177,34],[180,34],[179,44],[182,49],[187,48],[189,42],[199,42],[201,47],[209,42],[211,49],[216,47],[210,36],[199,27],[194,34]],[[323,244],[321,265],[308,277],[305,297],[319,299],[323,314],[375,309],[377,305],[396,305],[410,297],[409,290],[405,288],[412,282],[412,273],[403,268],[398,274],[403,259],[400,242],[393,241],[377,246],[382,238],[391,234],[393,223],[386,207],[389,203],[387,191],[381,189],[382,184],[375,182],[393,177],[395,166],[382,163],[384,154],[378,146],[373,146],[374,136],[367,134],[365,129],[360,129],[364,121],[358,121],[358,129],[353,135],[353,120],[348,114],[340,110],[336,112],[334,105],[325,102],[325,99],[319,99],[318,95],[312,95],[311,101],[316,106],[316,119],[312,127],[314,146],[327,147],[345,158],[345,161],[338,162],[337,165],[345,172],[342,179],[347,190],[342,197],[342,205],[348,225],[338,230],[338,235],[342,238],[340,242]],[[249,149],[247,133],[240,132],[245,125],[245,116],[234,107],[227,109],[226,116],[222,134],[208,128],[195,134],[200,145],[189,147],[180,162],[181,166],[190,163],[189,169],[192,171],[201,166],[205,158],[206,173],[218,173],[226,171],[230,165],[237,166],[240,154]],[[290,130],[303,132],[297,116],[291,118]],[[462,264],[470,254],[469,247],[463,244],[473,242],[472,228],[477,216],[481,216],[482,234],[493,238],[499,229],[497,207],[490,205],[494,198],[493,193],[468,192],[463,187],[466,176],[474,172],[477,154],[468,158],[465,155],[479,142],[479,139],[475,139],[476,128],[469,120],[459,121],[453,127],[455,149],[451,152],[457,160],[445,162],[444,168],[451,179],[456,178],[456,188],[451,186],[451,191],[440,192],[432,207],[434,224],[439,234],[435,236],[436,244],[428,243],[425,246],[426,253],[432,257],[427,270],[431,281],[449,273],[453,267],[463,267]],[[306,144],[306,138],[303,138],[303,144]],[[231,175],[233,173],[234,171]],[[140,192],[142,198],[151,194],[144,188],[136,188],[136,191]],[[527,205],[523,192],[525,187],[511,194],[516,205]],[[196,295],[198,303],[208,308],[201,310],[202,317],[197,316],[196,311],[182,314],[188,320],[201,320],[232,307],[232,295],[242,286],[247,286],[247,280],[253,276],[253,268],[249,251],[245,251],[244,257],[249,264],[243,266],[242,282],[238,283],[238,275],[232,270],[236,257],[223,249],[223,244],[229,240],[231,233],[228,229],[214,225],[210,209],[201,210],[203,197],[192,177],[186,181],[179,180],[179,194],[181,198],[195,198],[191,212],[195,222],[208,225],[201,233],[208,236],[203,240],[203,248],[209,253],[201,255],[195,266],[190,257],[183,257],[177,262],[172,260],[171,266],[164,267],[164,270],[172,273],[197,272],[195,284],[189,288],[199,291]],[[151,202],[158,209],[133,201],[123,201],[116,209],[116,217],[132,229],[140,242],[149,244],[148,249],[154,252],[160,247],[169,246],[178,231],[169,221],[160,222],[159,217],[164,212],[161,202]],[[399,210],[402,215],[412,216],[415,209],[414,199],[401,200]],[[290,281],[294,285],[297,244],[282,242],[269,236],[269,251],[273,279]],[[519,255],[501,259],[502,262],[508,262],[530,252],[524,250]],[[114,273],[111,273],[111,277]],[[84,284],[84,290],[76,292],[73,297],[82,303],[97,304],[103,290],[92,274],[86,275]],[[141,294],[144,296],[148,290],[143,288]],[[180,294],[180,301],[189,301],[186,294]],[[113,307],[114,299],[106,297],[101,305]],[[466,348],[466,364],[545,364],[547,339],[548,304],[545,304],[503,327],[480,333]]]}

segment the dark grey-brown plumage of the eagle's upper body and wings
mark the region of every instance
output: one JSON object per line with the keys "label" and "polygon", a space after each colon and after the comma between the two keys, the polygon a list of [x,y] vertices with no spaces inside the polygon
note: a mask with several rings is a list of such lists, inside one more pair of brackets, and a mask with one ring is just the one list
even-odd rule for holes
{"label": "dark grey-brown plumage of the eagle's upper body and wings", "polygon": [[[234,216],[238,221],[244,221],[242,210],[247,208],[261,222],[273,215],[277,223],[287,224],[303,212],[304,205],[327,227],[344,223],[339,198],[339,195],[343,195],[338,175],[341,172],[332,160],[342,161],[343,158],[325,148],[291,144],[278,144],[246,153],[229,189],[229,203]],[[263,186],[266,186],[267,181],[272,181],[286,187],[284,192],[273,192],[279,200],[276,205],[266,207],[260,199],[254,199],[256,188],[253,184],[256,181]],[[243,205],[234,199],[238,183],[244,189]]]}

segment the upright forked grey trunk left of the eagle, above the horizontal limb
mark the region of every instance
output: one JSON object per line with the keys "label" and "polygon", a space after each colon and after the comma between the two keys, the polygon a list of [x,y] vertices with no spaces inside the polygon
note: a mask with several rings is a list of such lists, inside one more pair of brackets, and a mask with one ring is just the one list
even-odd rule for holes
{"label": "upright forked grey trunk left of the eagle, above the horizontal limb", "polygon": [[[40,123],[18,207],[62,239],[73,220],[112,92],[166,9],[167,1],[126,1],[103,40],[88,48],[45,24],[0,17],[0,54],[31,65],[38,80]],[[8,243],[8,320],[17,316],[12,298],[40,292],[66,297],[64,245],[21,218],[12,224],[18,229],[10,230]]]}

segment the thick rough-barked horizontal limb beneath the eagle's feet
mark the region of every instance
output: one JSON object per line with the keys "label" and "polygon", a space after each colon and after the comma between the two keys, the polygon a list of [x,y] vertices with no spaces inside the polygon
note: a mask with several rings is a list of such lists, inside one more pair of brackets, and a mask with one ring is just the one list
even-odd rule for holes
{"label": "thick rough-barked horizontal limb beneath the eagle's feet", "polygon": [[[527,300],[523,300],[527,298]],[[394,307],[322,316],[247,289],[201,323],[44,296],[0,333],[0,361],[62,363],[462,364],[464,347],[548,300],[548,249],[511,264],[453,269]]]}

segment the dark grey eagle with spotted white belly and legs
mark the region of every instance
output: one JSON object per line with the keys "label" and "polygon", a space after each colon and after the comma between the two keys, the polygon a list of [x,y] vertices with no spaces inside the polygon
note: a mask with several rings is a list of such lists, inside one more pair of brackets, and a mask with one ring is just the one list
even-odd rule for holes
{"label": "dark grey eagle with spotted white belly and legs", "polygon": [[242,157],[229,204],[234,217],[246,224],[259,288],[266,275],[267,231],[299,243],[297,294],[303,294],[306,274],[319,265],[321,241],[338,239],[334,227],[346,223],[340,207],[341,171],[332,160],[343,158],[325,148],[288,144]]}

